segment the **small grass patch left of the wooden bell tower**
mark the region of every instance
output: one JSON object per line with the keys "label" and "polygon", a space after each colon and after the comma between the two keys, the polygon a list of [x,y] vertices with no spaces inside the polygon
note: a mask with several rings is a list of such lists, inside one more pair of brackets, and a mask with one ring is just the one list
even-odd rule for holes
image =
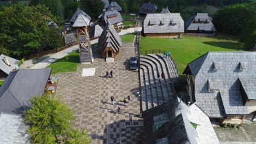
{"label": "small grass patch left of the wooden bell tower", "polygon": [[48,65],[46,68],[53,68],[51,74],[72,72],[77,70],[79,64],[79,52],[78,50],[69,53],[67,56],[58,59],[56,62]]}

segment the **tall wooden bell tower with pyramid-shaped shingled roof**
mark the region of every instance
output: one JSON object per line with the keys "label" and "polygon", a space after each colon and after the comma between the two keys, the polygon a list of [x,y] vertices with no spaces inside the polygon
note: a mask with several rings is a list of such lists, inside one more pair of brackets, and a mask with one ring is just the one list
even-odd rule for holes
{"label": "tall wooden bell tower with pyramid-shaped shingled roof", "polygon": [[92,63],[92,50],[88,34],[90,20],[82,14],[79,14],[73,27],[77,27],[77,37],[79,39],[79,58],[80,63]]}

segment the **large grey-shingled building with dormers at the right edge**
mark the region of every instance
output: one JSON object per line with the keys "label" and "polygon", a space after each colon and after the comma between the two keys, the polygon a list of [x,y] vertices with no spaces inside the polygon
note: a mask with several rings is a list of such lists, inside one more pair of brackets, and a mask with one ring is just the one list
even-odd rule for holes
{"label": "large grey-shingled building with dormers at the right edge", "polygon": [[212,121],[241,124],[256,112],[255,57],[256,52],[207,52],[190,62],[183,72],[189,89],[184,100]]}

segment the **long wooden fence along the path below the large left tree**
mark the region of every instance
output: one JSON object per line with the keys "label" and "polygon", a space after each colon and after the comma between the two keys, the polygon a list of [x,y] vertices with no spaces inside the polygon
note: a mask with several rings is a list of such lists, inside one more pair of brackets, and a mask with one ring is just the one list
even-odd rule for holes
{"label": "long wooden fence along the path below the large left tree", "polygon": [[60,52],[60,51],[62,51],[62,50],[67,49],[68,47],[71,47],[71,46],[74,46],[74,45],[78,45],[78,42],[74,42],[74,43],[65,45],[65,46],[63,46],[63,47],[61,47],[61,48],[59,48],[59,49],[49,50],[49,51],[43,51],[43,52],[38,52],[38,53],[35,53],[35,54],[33,54],[33,55],[27,56],[26,59],[42,57],[42,56],[48,55],[48,54],[50,54],[50,53]]}

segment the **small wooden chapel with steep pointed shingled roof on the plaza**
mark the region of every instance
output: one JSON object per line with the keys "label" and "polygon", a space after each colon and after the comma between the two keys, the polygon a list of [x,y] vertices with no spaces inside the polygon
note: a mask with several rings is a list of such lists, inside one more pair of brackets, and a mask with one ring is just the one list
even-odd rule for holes
{"label": "small wooden chapel with steep pointed shingled roof on the plaza", "polygon": [[114,27],[110,25],[107,20],[107,25],[98,39],[98,47],[101,49],[101,55],[108,60],[113,61],[118,56],[120,48],[122,47],[121,38],[115,31]]}

